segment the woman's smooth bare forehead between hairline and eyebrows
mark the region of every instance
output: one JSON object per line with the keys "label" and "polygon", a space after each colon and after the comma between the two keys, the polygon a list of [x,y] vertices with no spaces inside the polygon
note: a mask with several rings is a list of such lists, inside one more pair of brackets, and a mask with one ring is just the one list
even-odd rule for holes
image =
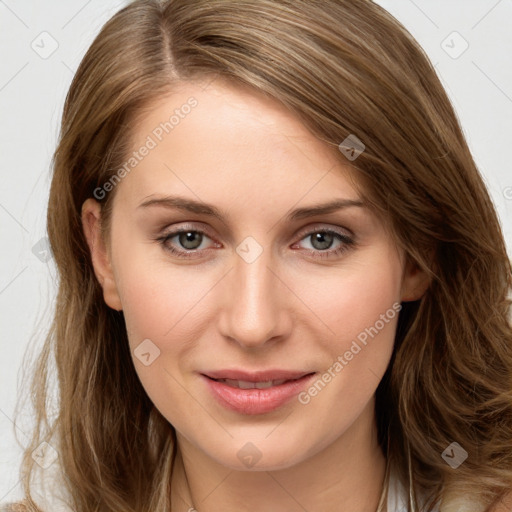
{"label": "woman's smooth bare forehead between hairline and eyebrows", "polygon": [[134,165],[117,191],[123,201],[185,193],[227,206],[245,198],[257,210],[268,201],[292,207],[358,197],[337,148],[276,100],[220,79],[179,83],[149,105],[131,149]]}

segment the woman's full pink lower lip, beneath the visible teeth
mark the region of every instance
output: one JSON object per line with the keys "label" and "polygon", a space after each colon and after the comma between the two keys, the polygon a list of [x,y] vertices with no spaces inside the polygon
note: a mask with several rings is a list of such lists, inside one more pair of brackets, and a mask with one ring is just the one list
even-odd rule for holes
{"label": "woman's full pink lower lip, beneath the visible teeth", "polygon": [[312,373],[265,389],[239,389],[201,375],[217,401],[240,414],[264,414],[281,407],[298,395],[314,376]]}

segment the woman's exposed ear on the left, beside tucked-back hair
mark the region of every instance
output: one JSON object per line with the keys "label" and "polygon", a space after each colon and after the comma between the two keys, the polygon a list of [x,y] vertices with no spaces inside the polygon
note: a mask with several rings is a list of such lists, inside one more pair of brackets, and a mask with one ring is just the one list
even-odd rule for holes
{"label": "woman's exposed ear on the left, beside tucked-back hair", "polygon": [[101,236],[101,205],[94,199],[87,199],[82,205],[82,227],[91,252],[94,273],[103,288],[103,298],[116,311],[123,309],[117,291],[109,251]]}

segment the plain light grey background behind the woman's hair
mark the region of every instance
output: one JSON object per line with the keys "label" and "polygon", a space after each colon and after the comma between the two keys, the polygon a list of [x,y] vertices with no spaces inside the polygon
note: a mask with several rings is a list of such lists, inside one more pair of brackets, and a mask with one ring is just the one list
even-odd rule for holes
{"label": "plain light grey background behind the woman's hair", "polygon": [[[435,65],[512,254],[512,1],[377,3],[405,25]],[[51,259],[45,261],[40,240],[64,98],[87,47],[124,4],[0,0],[0,502],[21,496],[13,430],[22,441],[26,434],[25,427],[12,422],[22,378],[18,371],[29,342],[37,347],[44,337],[55,296],[55,267]],[[465,43],[453,31],[469,44],[457,58]]]}

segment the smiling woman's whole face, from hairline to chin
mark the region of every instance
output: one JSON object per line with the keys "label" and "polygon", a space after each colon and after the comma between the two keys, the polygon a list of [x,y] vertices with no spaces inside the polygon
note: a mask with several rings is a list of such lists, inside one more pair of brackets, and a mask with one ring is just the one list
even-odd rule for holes
{"label": "smiling woman's whole face, from hairline to chin", "polygon": [[84,228],[179,438],[224,466],[278,469],[373,424],[399,304],[423,281],[350,162],[220,80],[180,84],[135,130],[121,181],[96,192],[116,188],[108,250],[93,200]]}

